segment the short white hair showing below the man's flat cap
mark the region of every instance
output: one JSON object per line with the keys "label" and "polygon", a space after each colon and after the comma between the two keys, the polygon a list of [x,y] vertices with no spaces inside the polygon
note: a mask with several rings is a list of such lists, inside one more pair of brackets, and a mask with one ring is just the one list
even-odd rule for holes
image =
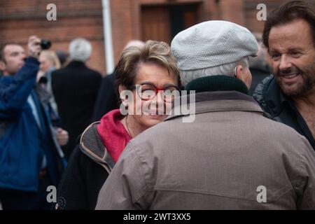
{"label": "short white hair showing below the man's flat cap", "polygon": [[230,64],[223,64],[220,66],[211,67],[208,69],[199,69],[199,70],[189,70],[189,71],[179,71],[181,76],[181,83],[187,85],[192,80],[197,78],[202,78],[205,76],[235,76],[235,68],[238,65],[243,65],[248,67],[248,57],[243,57],[239,62],[232,62]]}

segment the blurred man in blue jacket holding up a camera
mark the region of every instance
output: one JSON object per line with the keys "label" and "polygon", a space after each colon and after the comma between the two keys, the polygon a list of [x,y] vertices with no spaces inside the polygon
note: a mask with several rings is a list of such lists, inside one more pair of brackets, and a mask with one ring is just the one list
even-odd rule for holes
{"label": "blurred man in blue jacket holding up a camera", "polygon": [[50,118],[34,90],[41,39],[0,47],[0,201],[6,209],[48,209],[47,187],[57,186],[66,133],[52,133]]}

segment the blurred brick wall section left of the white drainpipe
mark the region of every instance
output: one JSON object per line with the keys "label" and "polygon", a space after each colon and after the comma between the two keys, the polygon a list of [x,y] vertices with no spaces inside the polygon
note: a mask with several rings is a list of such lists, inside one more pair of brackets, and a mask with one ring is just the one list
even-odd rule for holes
{"label": "blurred brick wall section left of the white drainpipe", "polygon": [[[57,21],[46,19],[48,3],[57,6]],[[0,1],[1,43],[23,46],[28,36],[36,34],[52,41],[52,50],[65,50],[73,38],[85,37],[93,51],[87,65],[105,73],[102,3],[100,0],[15,0]]]}

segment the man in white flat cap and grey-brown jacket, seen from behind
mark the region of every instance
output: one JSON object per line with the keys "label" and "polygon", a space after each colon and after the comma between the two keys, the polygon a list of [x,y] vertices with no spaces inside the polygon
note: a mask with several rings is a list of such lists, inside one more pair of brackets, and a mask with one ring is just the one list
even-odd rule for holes
{"label": "man in white flat cap and grey-brown jacket, seen from behind", "polygon": [[195,120],[171,115],[132,139],[96,209],[314,209],[309,142],[248,96],[248,57],[257,48],[251,32],[231,22],[177,34],[172,51],[183,85],[196,92],[188,102]]}

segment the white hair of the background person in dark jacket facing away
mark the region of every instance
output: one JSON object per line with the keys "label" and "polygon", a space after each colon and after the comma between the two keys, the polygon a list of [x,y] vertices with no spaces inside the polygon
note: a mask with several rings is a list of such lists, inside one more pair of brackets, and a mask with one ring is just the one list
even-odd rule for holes
{"label": "white hair of the background person in dark jacket facing away", "polygon": [[92,53],[92,45],[85,38],[76,38],[69,45],[71,61],[86,62]]}

